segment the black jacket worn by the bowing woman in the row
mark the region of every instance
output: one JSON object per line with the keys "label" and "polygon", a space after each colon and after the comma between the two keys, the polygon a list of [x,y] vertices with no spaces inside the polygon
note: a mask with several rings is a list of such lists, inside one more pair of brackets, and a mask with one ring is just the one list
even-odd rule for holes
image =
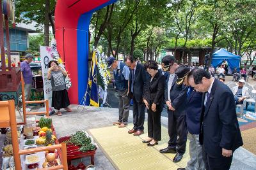
{"label": "black jacket worn by the bowing woman in the row", "polygon": [[164,94],[164,85],[165,77],[158,71],[154,76],[153,80],[150,82],[151,78],[147,80],[147,88],[144,93],[144,99],[147,100],[150,107],[153,103],[156,105],[163,105],[163,94]]}

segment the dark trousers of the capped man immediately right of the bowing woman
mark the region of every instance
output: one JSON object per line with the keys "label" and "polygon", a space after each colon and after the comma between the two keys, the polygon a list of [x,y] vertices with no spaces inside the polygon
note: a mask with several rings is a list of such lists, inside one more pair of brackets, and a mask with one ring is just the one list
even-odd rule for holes
{"label": "dark trousers of the capped man immediately right of the bowing woman", "polygon": [[168,110],[168,134],[168,148],[177,148],[178,153],[185,153],[188,134],[186,115],[177,116],[174,111]]}

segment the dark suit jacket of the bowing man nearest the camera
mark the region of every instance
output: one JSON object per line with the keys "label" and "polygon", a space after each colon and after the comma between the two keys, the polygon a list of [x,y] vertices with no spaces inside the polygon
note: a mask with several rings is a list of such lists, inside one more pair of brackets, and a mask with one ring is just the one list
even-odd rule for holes
{"label": "dark suit jacket of the bowing man nearest the camera", "polygon": [[200,143],[209,157],[221,157],[222,148],[234,152],[243,145],[234,95],[219,80],[214,79],[209,101],[203,104],[200,127]]}

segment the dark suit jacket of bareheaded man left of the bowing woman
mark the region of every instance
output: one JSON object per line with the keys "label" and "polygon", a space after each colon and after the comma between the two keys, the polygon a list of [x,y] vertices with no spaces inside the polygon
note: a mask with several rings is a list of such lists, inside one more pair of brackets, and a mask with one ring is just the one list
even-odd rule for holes
{"label": "dark suit jacket of bareheaded man left of the bowing woman", "polygon": [[137,102],[142,102],[142,97],[147,86],[148,74],[145,67],[137,62],[136,71],[134,75],[133,94],[131,94],[132,71],[130,70],[129,78],[129,96],[133,96]]}

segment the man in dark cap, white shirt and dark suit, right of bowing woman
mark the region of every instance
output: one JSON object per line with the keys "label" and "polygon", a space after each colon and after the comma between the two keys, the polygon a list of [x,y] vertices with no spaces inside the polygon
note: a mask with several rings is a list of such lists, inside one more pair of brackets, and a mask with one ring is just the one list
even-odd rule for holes
{"label": "man in dark cap, white shirt and dark suit, right of bowing woman", "polygon": [[168,108],[168,134],[170,140],[168,141],[168,147],[161,149],[159,152],[177,153],[173,158],[173,162],[179,162],[186,151],[186,101],[188,87],[183,85],[183,83],[176,83],[177,75],[175,71],[179,65],[175,62],[174,57],[170,57],[169,62],[166,62],[164,65],[168,66],[170,71],[164,91],[164,101]]}

